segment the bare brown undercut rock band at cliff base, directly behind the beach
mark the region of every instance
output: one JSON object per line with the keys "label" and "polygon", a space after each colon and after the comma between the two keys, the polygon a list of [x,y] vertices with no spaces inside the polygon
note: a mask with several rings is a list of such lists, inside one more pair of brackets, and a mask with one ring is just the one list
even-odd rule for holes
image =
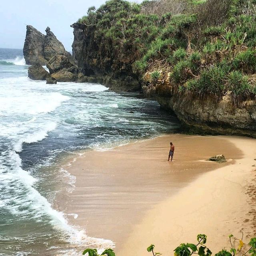
{"label": "bare brown undercut rock band at cliff base, directly behind the beach", "polygon": [[230,134],[256,137],[256,101],[254,98],[234,106],[229,94],[216,102],[207,98],[190,98],[172,94],[170,85],[156,90],[159,104],[176,114],[188,132]]}

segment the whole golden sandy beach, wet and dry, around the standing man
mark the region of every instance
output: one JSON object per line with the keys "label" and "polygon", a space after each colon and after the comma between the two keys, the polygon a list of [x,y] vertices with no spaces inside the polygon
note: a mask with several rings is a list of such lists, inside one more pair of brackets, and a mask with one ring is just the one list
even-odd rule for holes
{"label": "whole golden sandy beach, wet and dry, around the standing man", "polygon": [[[173,162],[167,161],[170,141]],[[172,254],[199,233],[216,252],[228,246],[230,233],[255,234],[255,145],[245,137],[170,134],[87,151],[63,164],[76,183],[71,194],[58,196],[58,208],[78,214],[69,221],[88,236],[115,242],[120,256],[130,255],[130,248],[147,254],[152,243]],[[228,162],[206,161],[216,154]]]}

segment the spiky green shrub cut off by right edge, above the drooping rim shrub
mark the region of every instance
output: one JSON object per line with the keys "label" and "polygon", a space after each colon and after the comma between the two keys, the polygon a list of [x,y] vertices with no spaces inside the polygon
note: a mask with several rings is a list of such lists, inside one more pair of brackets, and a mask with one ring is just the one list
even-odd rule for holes
{"label": "spiky green shrub cut off by right edge, above the drooping rim shrub", "polygon": [[256,70],[256,51],[248,49],[240,52],[233,61],[235,69],[241,69],[245,73],[255,72]]}

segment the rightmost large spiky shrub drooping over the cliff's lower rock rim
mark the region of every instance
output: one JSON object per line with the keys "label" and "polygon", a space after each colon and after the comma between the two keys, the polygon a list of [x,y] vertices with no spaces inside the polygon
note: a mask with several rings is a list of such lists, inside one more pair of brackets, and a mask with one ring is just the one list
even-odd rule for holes
{"label": "rightmost large spiky shrub drooping over the cliff's lower rock rim", "polygon": [[236,106],[240,106],[242,100],[246,100],[252,92],[248,77],[237,70],[228,74],[226,89],[231,92],[232,100]]}

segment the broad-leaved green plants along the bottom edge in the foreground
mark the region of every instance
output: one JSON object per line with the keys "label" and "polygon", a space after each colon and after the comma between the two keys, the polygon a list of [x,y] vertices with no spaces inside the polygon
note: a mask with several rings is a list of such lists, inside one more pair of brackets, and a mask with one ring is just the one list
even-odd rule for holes
{"label": "broad-leaved green plants along the bottom edge in the foreground", "polygon": [[[243,235],[241,239],[235,238],[232,234],[228,236],[230,242],[230,250],[226,248],[217,252],[215,256],[256,256],[256,237],[252,238],[248,245],[243,242]],[[211,250],[206,246],[207,236],[205,234],[198,234],[196,237],[196,244],[182,243],[180,246],[174,249],[174,256],[192,256],[192,254],[198,254],[198,256],[211,256]],[[162,255],[160,252],[154,252],[154,244],[148,246],[147,251],[152,252],[153,256]],[[83,255],[88,253],[89,256],[115,256],[112,249],[106,249],[102,254],[98,255],[96,249],[86,249]]]}

